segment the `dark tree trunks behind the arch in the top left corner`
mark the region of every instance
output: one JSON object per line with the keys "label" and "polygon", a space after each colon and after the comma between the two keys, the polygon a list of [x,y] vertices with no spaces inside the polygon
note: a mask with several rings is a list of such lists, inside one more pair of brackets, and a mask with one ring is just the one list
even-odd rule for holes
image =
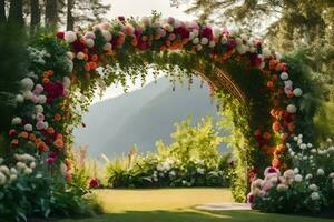
{"label": "dark tree trunks behind the arch in the top left corner", "polygon": [[110,9],[101,0],[0,0],[0,22],[37,27],[66,26],[72,30],[87,21],[99,21]]}

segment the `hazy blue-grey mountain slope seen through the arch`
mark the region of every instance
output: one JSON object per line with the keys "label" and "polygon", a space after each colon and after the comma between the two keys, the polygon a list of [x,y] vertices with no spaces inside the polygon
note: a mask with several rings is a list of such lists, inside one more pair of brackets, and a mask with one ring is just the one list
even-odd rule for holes
{"label": "hazy blue-grey mountain slope seen through the arch", "polygon": [[217,118],[206,85],[195,80],[191,90],[161,78],[140,90],[105,100],[90,107],[84,115],[87,128],[75,130],[75,143],[88,145],[88,154],[115,157],[137,144],[140,152],[155,150],[156,140],[170,142],[174,123],[193,117],[196,123],[212,114]]}

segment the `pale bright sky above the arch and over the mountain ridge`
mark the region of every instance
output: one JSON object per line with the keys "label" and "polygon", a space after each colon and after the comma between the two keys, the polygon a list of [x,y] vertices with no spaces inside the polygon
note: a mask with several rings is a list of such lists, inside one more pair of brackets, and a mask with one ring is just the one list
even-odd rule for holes
{"label": "pale bright sky above the arch and over the mountain ridge", "polygon": [[[106,14],[108,19],[124,17],[144,17],[150,16],[153,10],[161,12],[164,18],[174,17],[183,21],[191,21],[194,16],[186,14],[184,8],[170,7],[169,0],[102,0],[104,3],[111,4],[110,11]],[[153,77],[148,75],[147,83],[153,81]],[[135,85],[130,85],[129,91],[140,89],[140,81]],[[102,98],[96,97],[95,102],[118,97],[124,93],[120,85],[112,85],[107,89]]]}

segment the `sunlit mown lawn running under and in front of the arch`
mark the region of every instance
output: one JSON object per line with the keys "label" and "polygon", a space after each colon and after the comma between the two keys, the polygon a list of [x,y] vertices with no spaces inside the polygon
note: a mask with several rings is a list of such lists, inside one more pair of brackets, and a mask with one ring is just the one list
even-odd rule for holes
{"label": "sunlit mown lawn running under and in front of the arch", "polygon": [[105,214],[59,222],[330,222],[317,219],[255,211],[207,212],[203,203],[233,202],[227,189],[99,190]]}

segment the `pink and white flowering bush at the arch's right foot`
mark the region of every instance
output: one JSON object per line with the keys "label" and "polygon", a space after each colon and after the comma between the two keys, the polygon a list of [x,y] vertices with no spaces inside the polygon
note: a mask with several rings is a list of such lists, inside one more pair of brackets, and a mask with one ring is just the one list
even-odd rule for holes
{"label": "pink and white flowering bush at the arch's right foot", "polygon": [[287,143],[294,169],[267,168],[264,179],[254,179],[248,202],[264,212],[320,212],[334,206],[334,145],[320,147],[294,137]]}

